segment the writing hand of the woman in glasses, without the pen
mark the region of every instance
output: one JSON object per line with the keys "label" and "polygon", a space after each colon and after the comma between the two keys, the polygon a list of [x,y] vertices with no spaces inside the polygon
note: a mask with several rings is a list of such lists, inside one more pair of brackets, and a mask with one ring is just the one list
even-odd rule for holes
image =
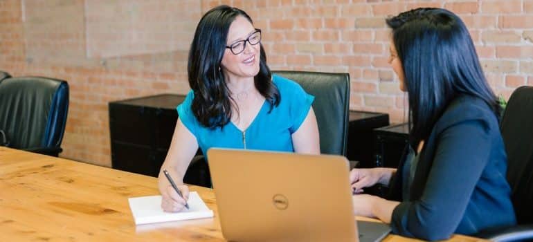
{"label": "writing hand of the woman in glasses, without the pen", "polygon": [[178,195],[174,187],[170,185],[165,176],[159,176],[159,192],[161,192],[161,208],[165,212],[180,212],[185,207],[189,199],[189,187],[186,185],[177,185],[183,198]]}

